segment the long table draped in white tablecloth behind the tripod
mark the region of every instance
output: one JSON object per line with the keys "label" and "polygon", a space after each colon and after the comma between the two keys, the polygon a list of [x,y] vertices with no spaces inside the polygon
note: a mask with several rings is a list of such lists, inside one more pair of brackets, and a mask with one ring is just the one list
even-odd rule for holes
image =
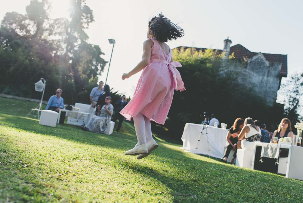
{"label": "long table draped in white tablecloth behind the tripod", "polygon": [[[206,125],[206,129],[203,130],[203,135],[198,141],[202,128],[203,125],[186,123],[181,137],[183,141],[181,149],[188,150],[191,153],[222,158],[228,130]],[[197,145],[198,149],[196,149]]]}

